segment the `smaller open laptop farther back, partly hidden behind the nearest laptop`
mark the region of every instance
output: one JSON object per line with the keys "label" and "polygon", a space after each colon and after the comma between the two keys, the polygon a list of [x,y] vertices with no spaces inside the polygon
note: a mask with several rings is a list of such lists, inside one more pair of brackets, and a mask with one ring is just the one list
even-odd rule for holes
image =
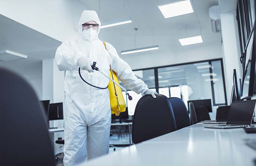
{"label": "smaller open laptop farther back, partly hidden behind the nearest laptop", "polygon": [[226,124],[229,116],[230,106],[221,106],[217,108],[215,121],[204,121],[204,124]]}

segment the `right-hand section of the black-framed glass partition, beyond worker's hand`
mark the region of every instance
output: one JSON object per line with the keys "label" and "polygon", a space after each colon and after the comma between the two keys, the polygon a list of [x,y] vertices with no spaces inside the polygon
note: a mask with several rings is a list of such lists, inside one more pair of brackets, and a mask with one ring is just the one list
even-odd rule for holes
{"label": "right-hand section of the black-framed glass partition, beyond worker's hand", "polygon": [[[211,98],[213,106],[225,105],[222,60],[209,60],[157,69],[159,93],[188,100]],[[168,94],[168,89],[170,92]],[[215,97],[218,96],[218,97]]]}

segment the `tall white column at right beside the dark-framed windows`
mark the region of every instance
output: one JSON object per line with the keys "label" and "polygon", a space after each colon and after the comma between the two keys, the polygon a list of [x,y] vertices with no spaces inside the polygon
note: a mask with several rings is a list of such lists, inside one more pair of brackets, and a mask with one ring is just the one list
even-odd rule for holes
{"label": "tall white column at right beside the dark-framed windows", "polygon": [[236,11],[229,11],[220,14],[221,36],[223,47],[223,65],[227,91],[227,101],[229,103],[233,87],[233,69],[236,69],[240,78],[242,74],[242,64],[240,63],[240,43],[239,32],[236,20]]}

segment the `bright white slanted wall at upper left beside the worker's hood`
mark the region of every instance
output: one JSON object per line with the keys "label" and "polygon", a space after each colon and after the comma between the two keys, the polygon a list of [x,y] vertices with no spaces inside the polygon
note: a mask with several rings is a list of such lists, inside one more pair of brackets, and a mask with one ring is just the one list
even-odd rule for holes
{"label": "bright white slanted wall at upper left beside the worker's hood", "polygon": [[74,0],[0,0],[0,14],[62,42],[78,38],[83,10]]}

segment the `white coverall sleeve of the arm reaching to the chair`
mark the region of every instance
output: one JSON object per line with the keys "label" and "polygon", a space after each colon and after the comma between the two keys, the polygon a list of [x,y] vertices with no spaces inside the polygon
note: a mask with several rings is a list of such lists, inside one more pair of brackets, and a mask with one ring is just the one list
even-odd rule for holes
{"label": "white coverall sleeve of the arm reaching to the chair", "polygon": [[116,72],[118,78],[125,84],[130,90],[135,91],[137,94],[144,93],[148,90],[148,86],[138,79],[132,72],[131,67],[124,60],[119,58],[116,49],[107,43],[107,48],[111,56],[112,70]]}

